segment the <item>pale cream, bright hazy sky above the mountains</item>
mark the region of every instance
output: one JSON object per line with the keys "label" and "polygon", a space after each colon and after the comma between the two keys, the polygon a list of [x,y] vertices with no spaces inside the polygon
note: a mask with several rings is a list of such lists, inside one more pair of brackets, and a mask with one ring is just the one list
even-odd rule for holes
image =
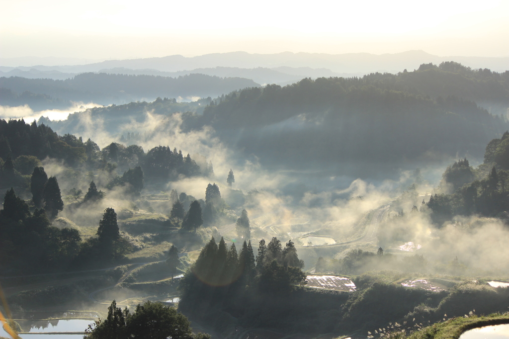
{"label": "pale cream, bright hazy sky above the mountains", "polygon": [[0,58],[422,49],[509,56],[509,1],[1,0]]}

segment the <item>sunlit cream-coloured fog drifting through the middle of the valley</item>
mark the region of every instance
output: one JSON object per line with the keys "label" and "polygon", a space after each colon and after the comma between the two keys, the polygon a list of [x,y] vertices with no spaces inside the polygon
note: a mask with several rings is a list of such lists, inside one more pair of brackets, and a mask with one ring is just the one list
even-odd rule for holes
{"label": "sunlit cream-coloured fog drifting through the middle of the valley", "polygon": [[[386,170],[390,166],[380,164],[346,164],[349,167],[358,166],[359,172],[366,165],[380,167],[380,171],[375,171],[378,172],[375,177],[362,179],[343,175],[341,168],[336,171],[330,168],[323,171],[293,171],[292,168],[274,171],[264,168],[256,154],[244,158],[237,150],[225,146],[211,127],[184,131],[182,114],[159,116],[146,111],[144,115],[141,121],[132,119],[118,126],[121,133],[111,134],[104,129],[101,119],[92,118],[90,110],[86,110],[79,115],[79,123],[72,130],[56,129],[56,132],[60,135],[73,133],[83,140],[91,138],[101,148],[112,142],[121,143],[121,136],[128,132],[139,133],[137,140],[124,144],[140,145],[145,152],[159,145],[172,149],[176,147],[184,155],[189,153],[202,166],[211,161],[214,173],[208,178],[182,178],[162,185],[146,185],[142,195],[169,195],[175,189],[178,193],[185,192],[196,199],[205,199],[207,185],[215,182],[230,205],[231,213],[240,215],[245,208],[251,224],[262,230],[259,235],[278,236],[281,242],[290,238],[300,239],[310,232],[314,232],[312,235],[331,237],[336,242],[351,240],[360,223],[370,222],[363,221],[367,213],[390,204],[391,208],[375,230],[378,232],[375,246],[398,252],[398,246],[412,241],[421,246],[418,253],[424,253],[428,260],[447,263],[458,258],[467,266],[487,271],[509,270],[509,247],[506,246],[509,243],[509,230],[500,220],[457,217],[454,223],[442,227],[434,225],[427,212],[412,212],[413,206],[420,208],[422,201],[429,200],[429,193],[437,192],[441,175],[446,166],[454,162],[454,158],[442,158],[432,162],[432,165],[422,161],[414,164],[413,170]],[[477,159],[469,160],[474,167],[478,164]],[[81,174],[82,180],[76,180],[75,175],[70,175],[62,163],[46,159],[43,165],[48,176],[58,178],[63,192],[72,188],[87,191],[90,178],[87,179],[85,174]],[[420,168],[416,170],[418,166]],[[408,167],[412,168],[412,164]],[[235,174],[233,189],[226,183],[230,168]],[[111,179],[108,176],[115,175],[122,173],[114,172],[104,174],[103,178],[94,178],[98,189]],[[402,193],[412,184],[416,184],[415,190],[410,190],[402,198]],[[155,212],[169,214],[171,206],[161,206],[155,206]],[[66,208],[59,216],[78,225],[92,226],[97,225],[106,207],[119,211],[130,208],[123,189],[108,191],[100,205],[86,209]],[[398,214],[401,212],[403,216]],[[305,246],[307,243],[300,241],[297,244]],[[373,250],[374,246],[363,248]],[[306,267],[313,267],[318,256],[317,253],[306,255]]]}

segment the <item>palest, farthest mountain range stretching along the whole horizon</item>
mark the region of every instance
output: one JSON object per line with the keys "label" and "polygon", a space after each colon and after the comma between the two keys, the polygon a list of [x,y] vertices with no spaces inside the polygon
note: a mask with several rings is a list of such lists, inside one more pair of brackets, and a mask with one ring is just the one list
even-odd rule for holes
{"label": "palest, farthest mountain range stretching along the whole horizon", "polygon": [[[20,65],[26,65],[28,61],[26,59],[19,58]],[[37,64],[38,61],[49,62],[48,59],[35,58],[33,64]],[[247,52],[229,52],[205,54],[190,58],[182,55],[169,55],[162,58],[106,60],[99,63],[72,66],[0,66],[0,75],[44,76],[53,79],[64,79],[84,72],[163,76],[203,73],[221,77],[245,77],[258,83],[283,84],[303,77],[354,76],[372,72],[398,73],[404,69],[412,71],[421,64],[440,64],[444,61],[459,62],[474,69],[489,68],[497,72],[509,69],[509,58],[437,56],[422,50],[380,55],[370,53],[282,52],[276,54],[250,54]],[[13,59],[0,59],[0,65],[13,65],[15,62]],[[160,74],[158,72],[167,73]]]}

